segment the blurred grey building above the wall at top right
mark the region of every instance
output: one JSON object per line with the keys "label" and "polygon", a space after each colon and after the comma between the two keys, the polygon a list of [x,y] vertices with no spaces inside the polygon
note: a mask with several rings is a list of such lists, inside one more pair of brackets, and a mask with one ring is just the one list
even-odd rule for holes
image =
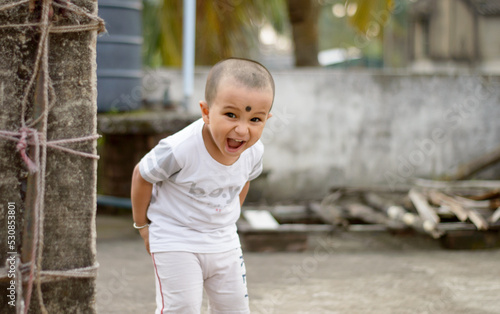
{"label": "blurred grey building above the wall at top right", "polygon": [[[488,74],[500,73],[499,16],[476,13],[464,0],[440,0],[414,11],[409,21],[414,70],[477,69]],[[428,31],[424,27],[427,19]],[[428,53],[424,47],[427,36]]]}

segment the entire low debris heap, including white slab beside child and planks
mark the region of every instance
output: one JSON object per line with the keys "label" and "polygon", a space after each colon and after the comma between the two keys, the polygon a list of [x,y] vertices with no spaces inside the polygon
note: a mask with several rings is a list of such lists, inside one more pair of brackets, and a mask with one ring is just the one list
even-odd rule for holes
{"label": "entire low debris heap, including white slab beside child and planks", "polygon": [[[500,245],[500,181],[416,180],[409,190],[339,188],[321,202],[243,209],[238,232],[251,251],[303,251],[310,234],[419,232],[448,248]],[[474,239],[473,239],[474,238]]]}

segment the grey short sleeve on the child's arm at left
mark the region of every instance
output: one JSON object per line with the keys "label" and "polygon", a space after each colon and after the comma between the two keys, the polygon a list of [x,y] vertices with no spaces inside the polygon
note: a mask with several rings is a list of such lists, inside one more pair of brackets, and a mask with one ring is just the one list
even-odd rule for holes
{"label": "grey short sleeve on the child's arm at left", "polygon": [[139,162],[141,176],[149,183],[165,181],[180,170],[172,146],[166,139],[161,140]]}

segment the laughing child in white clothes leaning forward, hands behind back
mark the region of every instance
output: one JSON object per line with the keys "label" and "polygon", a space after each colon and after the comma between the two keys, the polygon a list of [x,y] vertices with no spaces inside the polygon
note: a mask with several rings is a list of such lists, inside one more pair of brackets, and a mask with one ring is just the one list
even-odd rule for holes
{"label": "laughing child in white clothes leaning forward, hands behind back", "polygon": [[[202,118],[160,141],[132,176],[134,227],[150,252],[156,314],[249,313],[236,220],[262,171],[259,141],[274,81],[261,64],[227,59],[208,74]],[[236,197],[239,196],[239,197]]]}

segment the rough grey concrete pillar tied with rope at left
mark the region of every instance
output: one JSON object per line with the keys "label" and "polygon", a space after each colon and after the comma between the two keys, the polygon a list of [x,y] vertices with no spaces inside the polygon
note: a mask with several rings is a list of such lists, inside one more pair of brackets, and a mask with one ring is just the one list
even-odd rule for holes
{"label": "rough grey concrete pillar tied with rope at left", "polygon": [[[0,25],[40,22],[41,6],[45,1],[33,1],[32,10],[28,2],[5,9],[4,6],[14,3],[19,1],[3,1]],[[84,7],[83,10],[71,3],[57,6],[63,3],[51,4],[49,23],[56,27],[54,31],[61,25],[85,26],[96,21],[91,17],[97,13],[96,1],[78,1],[77,5]],[[46,120],[49,141],[96,132],[96,34],[97,29],[49,34],[49,76],[55,95]],[[18,26],[1,27],[0,38],[0,130],[17,132],[21,126],[21,101],[34,72],[41,36],[36,26]],[[35,108],[34,94],[32,89],[28,96],[27,119],[40,112],[40,108]],[[22,251],[30,237],[30,232],[23,229],[30,230],[27,217],[30,206],[25,205],[25,199],[27,186],[33,183],[28,179],[16,144],[0,138],[0,268],[4,267],[11,252]],[[81,152],[96,151],[95,140],[67,146]],[[28,150],[33,154],[33,146]],[[95,264],[96,171],[94,159],[47,148],[41,270],[68,271]],[[15,208],[13,247],[7,245],[10,244],[7,237],[8,210],[11,208]],[[95,278],[50,278],[52,280],[41,280],[43,303],[48,313],[96,312]],[[8,303],[10,284],[5,277],[0,280],[0,313],[16,313],[16,308]],[[41,313],[36,286],[35,280],[29,313]],[[16,300],[22,298],[20,288],[15,287]]]}

